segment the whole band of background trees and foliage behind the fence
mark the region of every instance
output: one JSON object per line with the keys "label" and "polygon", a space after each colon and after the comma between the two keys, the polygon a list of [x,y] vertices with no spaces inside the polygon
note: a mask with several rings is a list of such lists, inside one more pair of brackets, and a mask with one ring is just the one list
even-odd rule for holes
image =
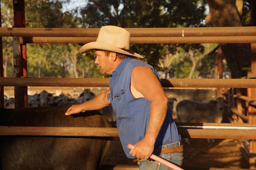
{"label": "whole band of background trees and foliage behind the fence", "polygon": [[[212,22],[207,22],[207,24],[204,22],[207,7],[209,5],[211,11],[212,5],[206,0],[84,0],[84,2],[86,4],[84,6],[64,10],[65,6],[73,2],[70,0],[25,0],[26,27],[215,26],[213,17],[211,17]],[[248,4],[249,1],[244,1],[242,7],[240,22],[244,26],[250,26]],[[12,27],[12,0],[1,1],[1,17],[3,27]],[[208,21],[207,17],[206,21]],[[10,37],[3,37],[5,77],[13,76],[11,41]],[[105,77],[94,64],[93,51],[79,54],[82,45],[27,44],[28,77]],[[154,66],[163,78],[214,78],[214,54],[209,54],[217,46],[218,44],[131,44],[131,49],[144,56],[142,60]],[[224,63],[230,66],[229,63]],[[224,71],[231,74],[226,65]]]}

